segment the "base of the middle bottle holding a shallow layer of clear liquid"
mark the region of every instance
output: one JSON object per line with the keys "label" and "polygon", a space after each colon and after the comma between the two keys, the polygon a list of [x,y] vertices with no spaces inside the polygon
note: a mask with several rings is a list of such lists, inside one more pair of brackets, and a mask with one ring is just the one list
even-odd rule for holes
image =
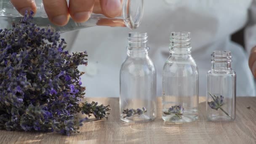
{"label": "base of the middle bottle holding a shallow layer of clear liquid", "polygon": [[162,119],[168,123],[176,123],[176,124],[190,123],[190,122],[194,122],[198,119],[198,114],[196,114],[196,115],[181,115],[181,116],[166,115],[166,116],[162,116]]}

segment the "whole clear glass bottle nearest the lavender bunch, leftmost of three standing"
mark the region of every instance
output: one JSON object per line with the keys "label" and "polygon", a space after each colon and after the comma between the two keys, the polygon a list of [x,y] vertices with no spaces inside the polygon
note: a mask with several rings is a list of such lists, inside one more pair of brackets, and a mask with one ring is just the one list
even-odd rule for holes
{"label": "whole clear glass bottle nearest the lavender bunch, leftmost of three standing", "polygon": [[144,122],[156,117],[156,69],[149,58],[147,33],[129,33],[120,69],[120,119]]}

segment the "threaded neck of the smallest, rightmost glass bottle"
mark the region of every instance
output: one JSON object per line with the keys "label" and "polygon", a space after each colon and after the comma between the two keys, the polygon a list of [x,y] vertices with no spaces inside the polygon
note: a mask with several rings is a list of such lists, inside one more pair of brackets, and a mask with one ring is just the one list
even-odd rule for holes
{"label": "threaded neck of the smallest, rightmost glass bottle", "polygon": [[216,71],[232,70],[230,51],[213,51],[211,54],[212,69]]}

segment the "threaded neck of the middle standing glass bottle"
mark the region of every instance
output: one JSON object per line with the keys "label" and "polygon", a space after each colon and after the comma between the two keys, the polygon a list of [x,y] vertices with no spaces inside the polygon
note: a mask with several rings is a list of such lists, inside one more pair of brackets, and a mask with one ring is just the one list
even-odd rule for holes
{"label": "threaded neck of the middle standing glass bottle", "polygon": [[170,53],[190,54],[190,32],[172,32],[170,36]]}

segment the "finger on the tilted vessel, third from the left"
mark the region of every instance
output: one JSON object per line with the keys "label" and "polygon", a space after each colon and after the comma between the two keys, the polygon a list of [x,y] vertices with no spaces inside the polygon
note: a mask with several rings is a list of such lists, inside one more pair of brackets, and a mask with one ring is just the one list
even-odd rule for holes
{"label": "finger on the tilted vessel, third from the left", "polygon": [[93,11],[94,0],[69,0],[69,14],[76,22],[87,21]]}

